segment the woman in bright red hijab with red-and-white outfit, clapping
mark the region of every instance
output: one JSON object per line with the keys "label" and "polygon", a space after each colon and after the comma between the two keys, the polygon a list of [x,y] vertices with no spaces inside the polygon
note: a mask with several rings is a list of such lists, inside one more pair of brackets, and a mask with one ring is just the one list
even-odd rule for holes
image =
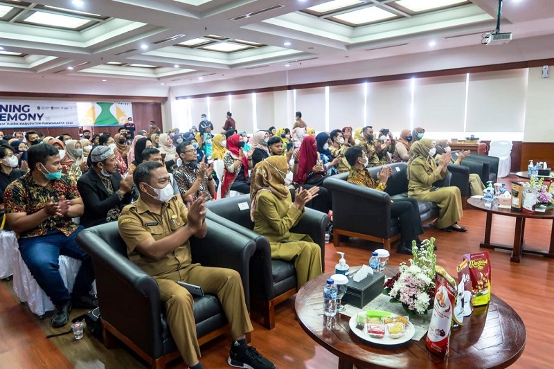
{"label": "woman in bright red hijab with red-and-white outfit, clapping", "polygon": [[223,156],[222,197],[227,197],[229,190],[240,193],[250,192],[248,169],[252,158],[239,147],[239,139],[238,134],[233,134],[227,138],[227,152]]}

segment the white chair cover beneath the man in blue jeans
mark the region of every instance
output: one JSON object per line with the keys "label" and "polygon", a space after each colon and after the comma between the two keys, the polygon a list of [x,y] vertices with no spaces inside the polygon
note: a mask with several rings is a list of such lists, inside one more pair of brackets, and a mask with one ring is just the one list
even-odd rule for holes
{"label": "white chair cover beneath the man in blue jeans", "polygon": [[[75,277],[81,267],[81,262],[66,255],[60,255],[59,262],[60,276],[64,280],[65,287],[71,293]],[[30,273],[27,265],[21,258],[17,245],[13,258],[13,271],[13,289],[15,295],[21,303],[29,305],[29,309],[33,314],[43,316],[45,312],[55,309],[54,304],[46,296],[42,288],[39,287],[37,281],[33,278],[33,274]],[[92,284],[91,294],[96,294],[96,281]]]}

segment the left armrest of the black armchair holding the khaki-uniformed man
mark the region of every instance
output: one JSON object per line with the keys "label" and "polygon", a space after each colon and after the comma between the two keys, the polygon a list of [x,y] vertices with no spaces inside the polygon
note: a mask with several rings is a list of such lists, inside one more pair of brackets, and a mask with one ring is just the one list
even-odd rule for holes
{"label": "left armrest of the black armchair holding the khaki-uniformed man", "polygon": [[77,236],[93,260],[102,318],[153,357],[163,355],[159,287],[151,276],[115,251],[105,240],[119,240],[117,222],[95,226]]}

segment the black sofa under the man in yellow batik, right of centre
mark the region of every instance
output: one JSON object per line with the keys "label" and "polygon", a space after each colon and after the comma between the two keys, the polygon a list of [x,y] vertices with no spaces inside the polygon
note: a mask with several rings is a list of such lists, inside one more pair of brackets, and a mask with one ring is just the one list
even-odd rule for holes
{"label": "black sofa under the man in yellow batik, right of centre", "polygon": [[[407,163],[389,164],[393,176],[386,182],[384,192],[348,183],[348,173],[337,174],[325,179],[323,186],[328,188],[333,200],[333,242],[340,246],[339,235],[362,238],[383,244],[391,250],[391,243],[400,239],[398,219],[391,219],[391,199],[408,196]],[[373,178],[382,167],[370,168]],[[435,186],[450,186],[452,173],[448,173]],[[438,206],[431,201],[418,201],[422,224],[438,217]]]}

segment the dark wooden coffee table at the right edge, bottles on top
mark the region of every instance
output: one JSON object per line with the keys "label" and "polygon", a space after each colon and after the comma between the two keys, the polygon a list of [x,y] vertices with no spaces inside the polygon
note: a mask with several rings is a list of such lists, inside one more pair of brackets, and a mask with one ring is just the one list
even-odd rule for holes
{"label": "dark wooden coffee table at the right edge, bottles on top", "polygon": [[[498,208],[495,203],[492,208],[485,208],[485,201],[481,199],[467,199],[467,205],[470,208],[485,211],[487,213],[487,221],[485,223],[485,240],[481,242],[480,246],[484,249],[503,249],[511,250],[512,257],[511,262],[519,262],[521,260],[521,253],[532,253],[535,255],[543,255],[546,258],[554,258],[554,208],[548,207],[545,213],[528,214],[518,211],[512,211],[511,209]],[[506,217],[515,217],[515,230],[514,230],[514,245],[507,246],[502,244],[491,244],[490,233],[492,231],[492,215],[503,215]],[[524,247],[524,233],[525,233],[525,220],[526,219],[553,219],[552,230],[550,235],[550,246],[548,251],[531,249]]]}

